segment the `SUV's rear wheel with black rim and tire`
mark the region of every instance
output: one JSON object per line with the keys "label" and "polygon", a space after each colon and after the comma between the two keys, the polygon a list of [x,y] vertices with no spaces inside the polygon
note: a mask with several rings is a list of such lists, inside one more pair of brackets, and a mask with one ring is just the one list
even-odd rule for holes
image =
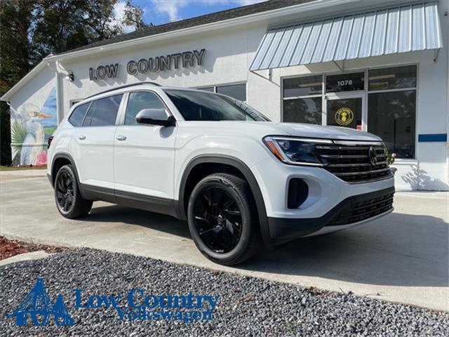
{"label": "SUV's rear wheel with black rim and tire", "polygon": [[55,178],[56,207],[62,216],[69,219],[86,216],[92,209],[91,200],[83,199],[72,165],[62,166]]}

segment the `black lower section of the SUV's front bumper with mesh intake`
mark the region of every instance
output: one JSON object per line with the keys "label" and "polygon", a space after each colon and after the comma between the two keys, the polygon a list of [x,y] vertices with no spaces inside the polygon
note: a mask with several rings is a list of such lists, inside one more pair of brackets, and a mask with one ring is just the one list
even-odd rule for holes
{"label": "black lower section of the SUV's front bumper with mesh intake", "polygon": [[358,194],[344,199],[319,218],[268,218],[269,233],[275,244],[318,232],[323,227],[356,225],[393,211],[394,187]]}

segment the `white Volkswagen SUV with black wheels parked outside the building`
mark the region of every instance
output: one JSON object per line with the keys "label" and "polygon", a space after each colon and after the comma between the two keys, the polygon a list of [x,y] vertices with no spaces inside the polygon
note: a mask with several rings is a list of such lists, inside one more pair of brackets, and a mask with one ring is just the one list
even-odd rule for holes
{"label": "white Volkswagen SUV with black wheels parked outside the building", "polygon": [[[187,220],[224,265],[263,242],[342,230],[393,210],[382,140],[350,128],[274,123],[208,91],[141,83],[72,107],[48,142],[66,218],[95,200]],[[151,221],[151,219],[149,219]]]}

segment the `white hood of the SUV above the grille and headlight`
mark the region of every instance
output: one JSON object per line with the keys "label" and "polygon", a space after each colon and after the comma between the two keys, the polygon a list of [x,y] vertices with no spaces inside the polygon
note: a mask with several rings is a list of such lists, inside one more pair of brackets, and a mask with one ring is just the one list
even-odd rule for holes
{"label": "white hood of the SUV above the grille and headlight", "polygon": [[297,137],[330,138],[340,140],[382,140],[381,138],[365,131],[357,131],[354,128],[341,126],[321,126],[301,123],[275,123],[279,131],[284,134]]}

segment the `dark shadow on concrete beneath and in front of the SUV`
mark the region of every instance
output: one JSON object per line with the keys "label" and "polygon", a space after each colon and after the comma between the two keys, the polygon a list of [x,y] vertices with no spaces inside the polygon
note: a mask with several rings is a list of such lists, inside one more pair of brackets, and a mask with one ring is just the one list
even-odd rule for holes
{"label": "dark shadow on concrete beneath and in front of the SUV", "polygon": [[[124,206],[94,207],[83,220],[139,225],[190,238],[185,221]],[[449,225],[441,218],[391,213],[341,232],[261,249],[235,267],[363,284],[448,286],[448,246]]]}

